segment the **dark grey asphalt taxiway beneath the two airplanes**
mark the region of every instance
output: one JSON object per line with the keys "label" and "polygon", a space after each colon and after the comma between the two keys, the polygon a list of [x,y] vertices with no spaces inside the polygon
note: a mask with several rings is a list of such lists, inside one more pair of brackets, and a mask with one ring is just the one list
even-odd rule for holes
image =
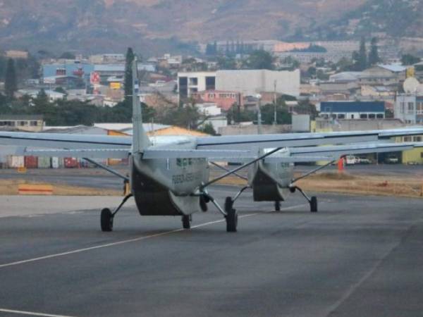
{"label": "dark grey asphalt taxiway beneath the two airplanes", "polygon": [[423,316],[422,199],[322,194],[309,213],[294,194],[276,213],[248,193],[236,233],[130,204],[105,233],[97,207],[54,198],[0,209],[0,316]]}

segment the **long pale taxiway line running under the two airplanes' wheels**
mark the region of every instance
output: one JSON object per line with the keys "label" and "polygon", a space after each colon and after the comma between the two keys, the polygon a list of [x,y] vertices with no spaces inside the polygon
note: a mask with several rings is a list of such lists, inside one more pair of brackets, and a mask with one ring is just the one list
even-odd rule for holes
{"label": "long pale taxiway line running under the two airplanes' wheels", "polygon": [[[298,207],[301,207],[301,206],[308,206],[308,204],[300,204],[300,205],[295,205],[295,206],[289,206],[289,207],[286,207],[286,208],[281,208],[281,211],[289,210],[289,209],[295,209],[295,208],[298,208]],[[269,213],[269,212],[274,212],[274,211],[266,211],[266,212]],[[260,214],[262,214],[262,213],[248,213],[247,215],[238,216],[238,218],[247,218],[247,217],[257,216],[257,215],[260,215]],[[200,225],[193,225],[191,228],[192,229],[201,228],[201,227],[205,227],[207,225],[214,225],[215,223],[223,223],[223,221],[226,221],[226,220],[223,218],[223,219],[220,219],[220,220],[209,221],[208,223],[200,223]],[[94,247],[87,247],[87,248],[83,248],[83,249],[75,249],[75,250],[72,250],[72,251],[66,251],[66,252],[61,252],[61,253],[56,253],[56,254],[49,254],[47,256],[39,256],[37,258],[32,258],[32,259],[27,259],[27,260],[22,260],[22,261],[4,263],[4,264],[0,264],[0,268],[6,268],[8,266],[17,266],[19,264],[41,261],[41,260],[46,260],[46,259],[58,258],[59,256],[66,256],[66,255],[69,255],[69,254],[76,254],[76,253],[91,251],[91,250],[95,250],[95,249],[102,249],[102,248],[106,248],[106,247],[114,247],[115,245],[119,245],[119,244],[125,244],[125,243],[130,243],[130,242],[147,240],[147,239],[151,239],[151,238],[154,238],[154,237],[161,237],[163,235],[171,235],[172,233],[176,233],[176,232],[180,232],[180,231],[185,231],[185,229],[180,228],[180,229],[176,229],[176,230],[155,233],[154,235],[144,235],[142,237],[136,237],[136,238],[133,238],[133,239],[121,240],[121,241],[117,241],[117,242],[110,242],[110,243],[106,243],[106,244],[100,244],[100,245],[97,245],[97,246],[94,246]]]}

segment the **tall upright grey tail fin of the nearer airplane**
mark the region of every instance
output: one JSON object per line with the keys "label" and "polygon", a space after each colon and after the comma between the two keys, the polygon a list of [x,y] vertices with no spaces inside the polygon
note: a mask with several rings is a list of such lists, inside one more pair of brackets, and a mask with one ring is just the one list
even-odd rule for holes
{"label": "tall upright grey tail fin of the nearer airplane", "polygon": [[142,127],[142,109],[138,92],[140,83],[138,81],[137,58],[132,64],[133,73],[133,154],[139,154],[151,145],[151,141]]}

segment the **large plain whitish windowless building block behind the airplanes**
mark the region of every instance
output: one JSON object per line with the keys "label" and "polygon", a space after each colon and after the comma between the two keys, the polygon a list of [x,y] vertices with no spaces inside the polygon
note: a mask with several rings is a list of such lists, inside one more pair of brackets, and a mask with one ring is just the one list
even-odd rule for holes
{"label": "large plain whitish windowless building block behind the airplanes", "polygon": [[218,70],[216,90],[255,96],[260,92],[277,92],[300,96],[300,70]]}

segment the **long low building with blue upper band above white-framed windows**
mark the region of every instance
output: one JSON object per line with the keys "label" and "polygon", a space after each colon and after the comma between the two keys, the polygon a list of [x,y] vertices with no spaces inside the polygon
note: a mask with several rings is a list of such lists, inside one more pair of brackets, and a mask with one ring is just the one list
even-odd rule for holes
{"label": "long low building with blue upper band above white-framed windows", "polygon": [[381,101],[325,101],[320,116],[332,119],[384,119],[385,103]]}

